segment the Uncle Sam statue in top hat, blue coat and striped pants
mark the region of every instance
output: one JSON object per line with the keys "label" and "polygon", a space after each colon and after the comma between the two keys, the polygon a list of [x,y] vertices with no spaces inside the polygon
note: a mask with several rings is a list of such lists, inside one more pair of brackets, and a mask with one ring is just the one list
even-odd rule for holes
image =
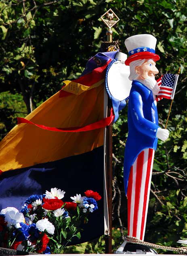
{"label": "Uncle Sam statue in top hat, blue coat and striped pants", "polygon": [[132,81],[128,101],[128,138],[124,156],[124,184],[128,198],[128,235],[143,240],[147,219],[154,152],[158,139],[169,132],[158,126],[155,95],[159,92],[155,54],[156,38],[150,34],[125,40]]}

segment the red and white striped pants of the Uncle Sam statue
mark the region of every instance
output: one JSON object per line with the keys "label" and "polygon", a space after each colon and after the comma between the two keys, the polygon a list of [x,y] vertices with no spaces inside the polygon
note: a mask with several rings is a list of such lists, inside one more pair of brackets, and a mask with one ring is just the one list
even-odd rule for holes
{"label": "red and white striped pants of the Uncle Sam statue", "polygon": [[144,149],[131,166],[128,179],[128,235],[144,240],[155,151]]}

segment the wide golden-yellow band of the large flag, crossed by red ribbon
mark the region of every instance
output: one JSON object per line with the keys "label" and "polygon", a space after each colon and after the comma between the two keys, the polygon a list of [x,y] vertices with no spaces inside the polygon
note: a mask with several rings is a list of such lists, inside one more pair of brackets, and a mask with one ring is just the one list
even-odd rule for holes
{"label": "wide golden-yellow band of the large flag, crossed by red ribbon", "polygon": [[[103,94],[103,86],[62,98],[57,92],[25,118],[50,127],[92,124],[103,118]],[[103,128],[88,132],[51,132],[29,124],[19,124],[0,142],[0,170],[60,160],[101,145]]]}

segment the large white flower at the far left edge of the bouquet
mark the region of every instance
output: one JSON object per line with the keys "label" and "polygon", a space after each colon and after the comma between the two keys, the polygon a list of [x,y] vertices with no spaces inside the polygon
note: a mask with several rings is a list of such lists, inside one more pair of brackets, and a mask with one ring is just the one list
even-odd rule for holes
{"label": "large white flower at the far left edge of the bouquet", "polygon": [[15,207],[6,207],[1,210],[0,214],[4,214],[7,227],[14,225],[16,228],[21,228],[20,222],[25,223],[23,213],[19,212]]}

